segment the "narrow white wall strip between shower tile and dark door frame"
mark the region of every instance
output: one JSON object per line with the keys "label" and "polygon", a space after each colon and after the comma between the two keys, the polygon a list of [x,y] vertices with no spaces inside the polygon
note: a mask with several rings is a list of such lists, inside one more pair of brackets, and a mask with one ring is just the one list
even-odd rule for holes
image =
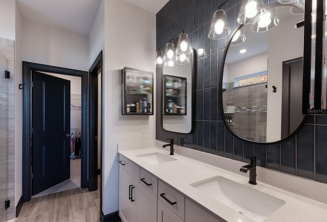
{"label": "narrow white wall strip between shower tile and dark door frame", "polygon": [[[0,19],[1,20],[1,19]],[[22,82],[21,66],[21,17],[15,4],[15,207],[22,195]]]}

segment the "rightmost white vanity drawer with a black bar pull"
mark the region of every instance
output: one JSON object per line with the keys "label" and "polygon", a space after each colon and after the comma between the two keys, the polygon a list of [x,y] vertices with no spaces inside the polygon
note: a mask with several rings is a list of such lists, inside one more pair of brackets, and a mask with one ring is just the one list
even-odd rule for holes
{"label": "rightmost white vanity drawer with a black bar pull", "polygon": [[158,181],[158,199],[184,220],[185,197],[160,180]]}

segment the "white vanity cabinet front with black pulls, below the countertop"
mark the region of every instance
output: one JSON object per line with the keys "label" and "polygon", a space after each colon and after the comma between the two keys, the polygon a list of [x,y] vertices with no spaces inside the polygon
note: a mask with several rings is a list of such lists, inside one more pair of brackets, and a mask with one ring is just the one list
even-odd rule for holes
{"label": "white vanity cabinet front with black pulls, below the countertop", "polygon": [[168,184],[120,155],[119,215],[123,222],[219,222]]}

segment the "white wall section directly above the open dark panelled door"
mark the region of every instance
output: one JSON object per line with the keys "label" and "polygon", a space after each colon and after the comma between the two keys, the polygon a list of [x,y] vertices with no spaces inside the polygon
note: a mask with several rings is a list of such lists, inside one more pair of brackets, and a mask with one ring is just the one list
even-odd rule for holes
{"label": "white wall section directly above the open dark panelled door", "polygon": [[88,71],[88,37],[22,19],[22,60]]}

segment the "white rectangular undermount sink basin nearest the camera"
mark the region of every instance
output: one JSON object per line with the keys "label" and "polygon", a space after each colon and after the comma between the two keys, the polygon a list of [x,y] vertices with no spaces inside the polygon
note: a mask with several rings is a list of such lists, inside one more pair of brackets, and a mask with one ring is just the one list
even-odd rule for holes
{"label": "white rectangular undermount sink basin nearest the camera", "polygon": [[246,187],[222,176],[211,177],[193,183],[191,186],[254,221],[263,221],[285,204],[282,199]]}

